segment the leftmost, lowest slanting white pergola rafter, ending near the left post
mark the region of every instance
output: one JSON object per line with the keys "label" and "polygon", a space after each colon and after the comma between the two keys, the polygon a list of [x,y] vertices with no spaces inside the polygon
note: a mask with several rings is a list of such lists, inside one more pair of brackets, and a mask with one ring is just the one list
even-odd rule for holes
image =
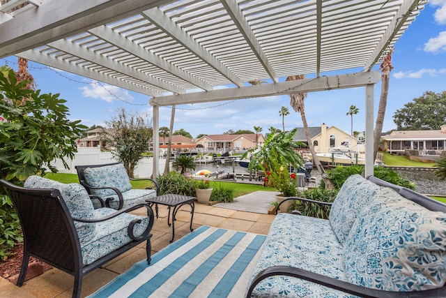
{"label": "leftmost, lowest slanting white pergola rafter, ending near the left post", "polygon": [[47,66],[51,66],[53,68],[57,68],[60,70],[67,71],[69,73],[75,73],[77,75],[82,75],[83,77],[89,77],[91,80],[98,80],[100,82],[105,82],[107,84],[111,84],[117,87],[121,87],[123,89],[128,89],[134,92],[138,92],[140,94],[146,94],[148,96],[161,96],[161,93],[155,93],[151,89],[146,89],[144,87],[138,86],[136,84],[132,84],[130,82],[125,82],[124,80],[118,80],[109,75],[105,75],[104,73],[100,73],[95,70],[89,70],[88,68],[84,68],[82,66],[77,66],[75,64],[69,64],[62,59],[57,59],[55,57],[50,57],[47,54],[42,54],[35,50],[27,50],[25,52],[21,52],[17,54],[18,57],[22,57],[24,59],[32,60],[40,64],[44,64]]}

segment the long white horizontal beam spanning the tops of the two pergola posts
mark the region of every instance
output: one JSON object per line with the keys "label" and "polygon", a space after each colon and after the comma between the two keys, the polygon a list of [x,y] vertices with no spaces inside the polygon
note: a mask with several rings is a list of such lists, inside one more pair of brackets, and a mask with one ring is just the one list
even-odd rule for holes
{"label": "long white horizontal beam spanning the tops of the two pergola posts", "polygon": [[330,89],[364,87],[376,84],[381,79],[378,71],[353,73],[350,75],[332,75],[314,79],[295,80],[273,84],[261,84],[249,87],[228,88],[208,92],[195,92],[171,96],[153,97],[151,105],[184,105],[206,103],[220,100],[234,100],[265,96],[277,96],[291,93],[314,92]]}

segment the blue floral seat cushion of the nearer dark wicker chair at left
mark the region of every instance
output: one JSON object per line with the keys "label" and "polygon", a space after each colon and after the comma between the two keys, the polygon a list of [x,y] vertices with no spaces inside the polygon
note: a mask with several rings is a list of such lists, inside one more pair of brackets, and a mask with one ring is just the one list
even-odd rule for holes
{"label": "blue floral seat cushion of the nearer dark wicker chair at left", "polygon": [[[116,212],[111,208],[100,208],[93,211],[95,218],[108,216]],[[96,233],[88,241],[81,241],[82,259],[84,265],[89,265],[95,260],[102,258],[117,248],[124,246],[132,241],[128,235],[128,225],[133,219],[140,219],[141,223],[134,225],[134,236],[140,236],[146,230],[149,218],[137,216],[134,214],[120,214],[109,221],[95,223]]]}

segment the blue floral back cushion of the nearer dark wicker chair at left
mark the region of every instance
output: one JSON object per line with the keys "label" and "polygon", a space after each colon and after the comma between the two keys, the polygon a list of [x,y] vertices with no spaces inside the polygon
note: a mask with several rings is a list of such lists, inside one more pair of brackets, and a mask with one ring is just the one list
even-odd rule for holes
{"label": "blue floral back cushion of the nearer dark wicker chair at left", "polygon": [[[46,179],[39,176],[30,176],[24,183],[26,188],[56,188],[61,192],[62,198],[67,205],[68,211],[73,218],[93,218],[93,203],[89,194],[80,184],[62,184],[58,181]],[[91,239],[95,233],[93,223],[79,223],[75,221],[75,227],[79,241]]]}

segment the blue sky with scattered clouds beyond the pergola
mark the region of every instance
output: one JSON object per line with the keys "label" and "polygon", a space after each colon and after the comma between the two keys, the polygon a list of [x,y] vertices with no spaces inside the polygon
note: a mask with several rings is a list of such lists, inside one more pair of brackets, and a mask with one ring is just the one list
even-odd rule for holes
{"label": "blue sky with scattered clouds beyond the pergola", "polygon": [[[8,64],[17,70],[17,57],[0,59],[0,65]],[[446,91],[446,0],[432,0],[425,6],[394,46],[390,73],[390,87],[383,132],[396,129],[393,115],[426,91]],[[378,70],[379,65],[374,67]],[[349,70],[348,73],[362,69]],[[105,122],[116,116],[119,109],[130,113],[146,113],[153,116],[148,96],[121,89],[105,83],[74,75],[42,64],[29,61],[29,73],[36,80],[42,93],[60,94],[67,100],[69,118],[80,119],[85,126],[106,126]],[[337,73],[321,73],[335,75]],[[284,78],[279,80],[284,81]],[[220,87],[222,88],[222,87]],[[374,88],[375,117],[378,111],[381,84]],[[312,92],[305,99],[305,114],[309,126],[336,126],[350,133],[351,105],[359,109],[353,115],[353,131],[365,130],[365,89],[340,89]],[[268,133],[271,126],[282,129],[279,110],[285,106],[290,114],[285,117],[286,130],[303,127],[300,114],[289,104],[289,96],[248,98],[241,100],[177,105],[174,131],[183,128],[192,137],[199,134],[222,134],[233,130],[254,131],[254,126]],[[160,127],[169,127],[171,107],[160,107]]]}

